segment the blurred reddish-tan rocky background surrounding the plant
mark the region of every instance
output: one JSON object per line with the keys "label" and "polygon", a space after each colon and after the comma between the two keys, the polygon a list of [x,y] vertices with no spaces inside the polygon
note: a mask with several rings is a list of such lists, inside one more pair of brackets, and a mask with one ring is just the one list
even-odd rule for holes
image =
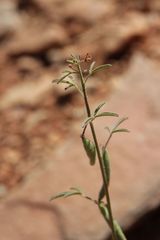
{"label": "blurred reddish-tan rocky background surrounding the plant", "polygon": [[86,53],[113,65],[89,82],[93,106],[106,99],[129,117],[131,133],[110,146],[116,218],[128,240],[160,239],[160,1],[0,0],[3,240],[109,239],[92,204],[48,202],[70,186],[96,198],[101,185],[83,160],[82,99],[52,84],[70,54]]}

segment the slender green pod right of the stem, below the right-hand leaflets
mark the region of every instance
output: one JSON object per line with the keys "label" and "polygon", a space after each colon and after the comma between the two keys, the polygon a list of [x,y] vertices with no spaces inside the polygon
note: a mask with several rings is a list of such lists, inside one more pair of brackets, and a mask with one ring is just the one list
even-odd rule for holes
{"label": "slender green pod right of the stem, below the right-hand leaflets", "polygon": [[102,161],[103,161],[103,169],[104,169],[107,185],[109,185],[109,182],[110,182],[110,161],[109,161],[109,156],[108,156],[107,150],[105,148],[102,148]]}

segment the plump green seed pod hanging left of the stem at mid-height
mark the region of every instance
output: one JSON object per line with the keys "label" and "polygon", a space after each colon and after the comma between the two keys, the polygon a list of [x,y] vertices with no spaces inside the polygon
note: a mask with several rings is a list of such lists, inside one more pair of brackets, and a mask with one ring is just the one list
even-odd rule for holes
{"label": "plump green seed pod hanging left of the stem at mid-height", "polygon": [[82,142],[83,142],[83,146],[86,151],[86,154],[90,160],[90,164],[94,165],[96,161],[96,148],[94,143],[92,143],[89,139],[87,139],[84,136],[82,137]]}

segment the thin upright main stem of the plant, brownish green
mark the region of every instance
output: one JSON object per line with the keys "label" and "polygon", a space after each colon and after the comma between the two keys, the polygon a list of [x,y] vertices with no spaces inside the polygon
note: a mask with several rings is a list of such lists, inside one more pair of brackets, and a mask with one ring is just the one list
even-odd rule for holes
{"label": "thin upright main stem of the plant, brownish green", "polygon": [[[90,110],[90,106],[89,106],[89,102],[88,102],[88,98],[87,98],[87,93],[86,93],[86,88],[85,88],[85,79],[84,79],[80,64],[78,64],[78,70],[79,70],[79,73],[80,73],[80,81],[81,81],[81,86],[82,86],[82,92],[83,92],[83,95],[84,95],[84,102],[85,102],[85,107],[86,107],[86,111],[87,111],[87,116],[91,117],[91,110]],[[105,186],[106,201],[107,201],[109,218],[110,218],[110,227],[111,227],[111,230],[112,230],[112,240],[116,240],[116,234],[115,234],[114,222],[113,222],[114,220],[113,220],[113,214],[112,214],[112,208],[111,208],[111,201],[110,201],[109,189],[108,189],[108,186],[107,186],[108,184],[106,182],[105,173],[104,173],[104,169],[103,169],[102,158],[101,158],[101,153],[100,153],[100,149],[99,149],[94,125],[93,125],[92,122],[90,123],[90,128],[91,128],[92,136],[93,136],[96,151],[97,151],[97,156],[98,156],[98,160],[99,160],[99,165],[100,165],[100,170],[101,170],[101,174],[102,174],[102,178],[103,178],[103,183],[104,183],[104,186]]]}

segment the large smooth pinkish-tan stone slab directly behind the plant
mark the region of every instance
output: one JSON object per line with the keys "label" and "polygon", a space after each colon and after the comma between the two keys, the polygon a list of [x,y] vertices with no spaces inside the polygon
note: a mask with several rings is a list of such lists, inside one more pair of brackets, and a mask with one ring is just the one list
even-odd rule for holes
{"label": "large smooth pinkish-tan stone slab directly behind the plant", "polygon": [[[129,117],[123,126],[131,133],[117,134],[109,145],[113,212],[125,228],[160,201],[159,76],[156,65],[135,55],[126,73],[114,81],[114,92],[104,108]],[[96,121],[101,143],[107,134],[104,126],[113,123],[107,119]],[[46,156],[46,163],[1,202],[2,239],[99,240],[108,236],[110,231],[93,203],[78,196],[48,201],[71,186],[97,197],[101,185],[98,163],[89,166],[79,138],[81,128],[73,129],[74,134]]]}

